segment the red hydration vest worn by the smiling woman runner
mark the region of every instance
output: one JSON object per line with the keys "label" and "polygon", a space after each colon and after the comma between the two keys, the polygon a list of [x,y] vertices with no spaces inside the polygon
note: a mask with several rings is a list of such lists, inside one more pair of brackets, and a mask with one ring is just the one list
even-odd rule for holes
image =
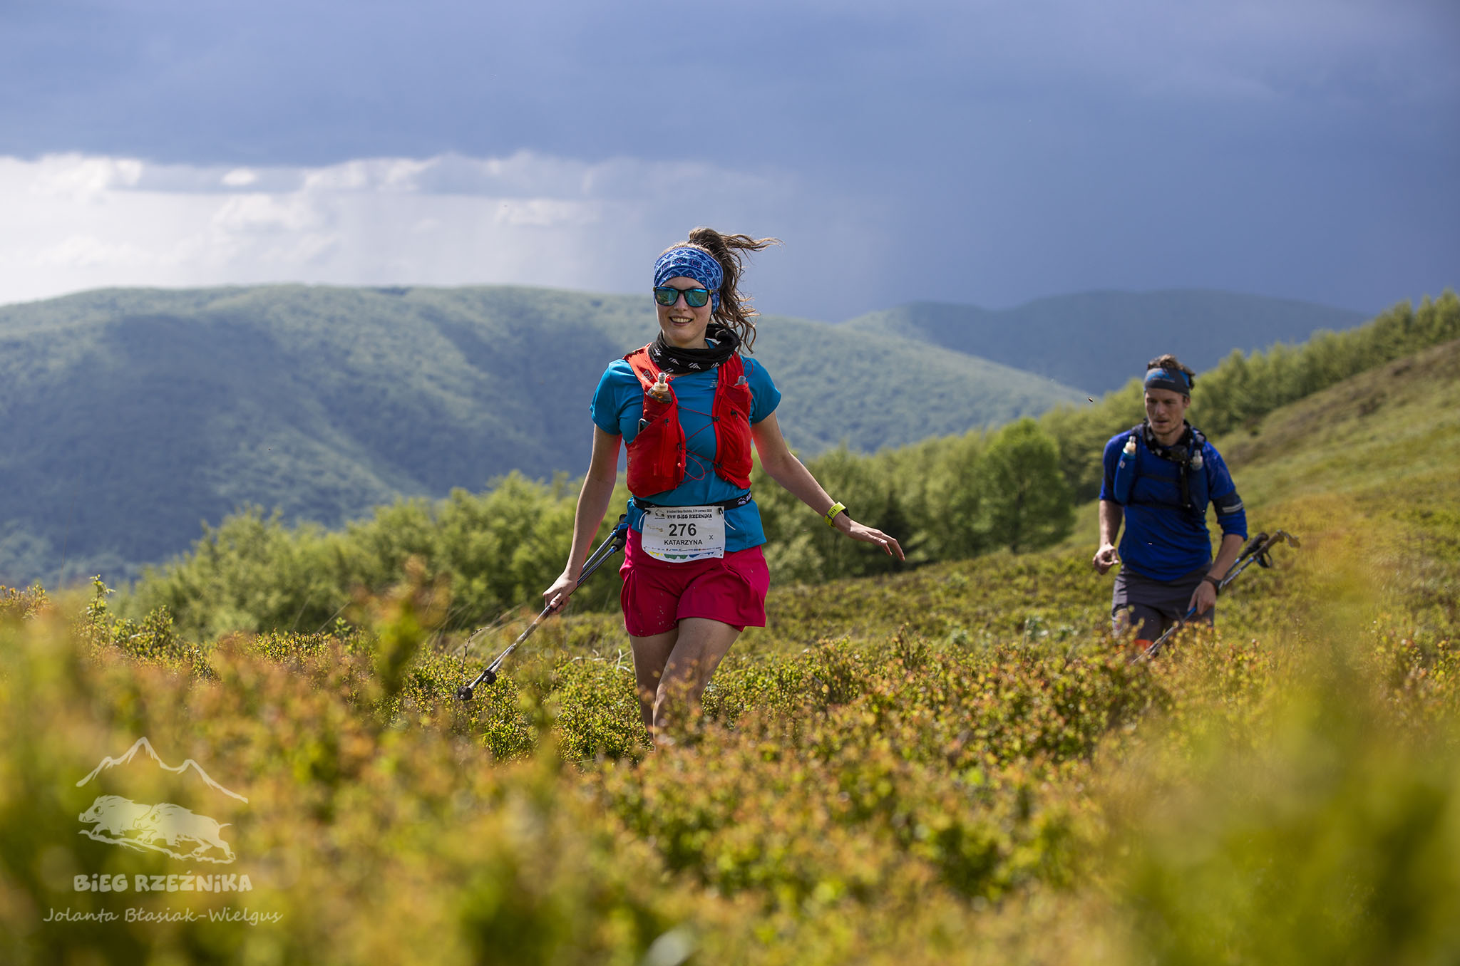
{"label": "red hydration vest worn by the smiling woman runner", "polygon": [[[679,398],[670,385],[669,400],[650,395],[658,381],[658,368],[648,356],[648,346],[623,356],[644,387],[644,420],[629,444],[629,493],[653,496],[685,482],[685,428],[679,425]],[[672,374],[664,374],[673,382]],[[720,363],[715,401],[710,409],[715,430],[715,476],[740,489],[750,486],[750,387],[745,363],[731,353]]]}

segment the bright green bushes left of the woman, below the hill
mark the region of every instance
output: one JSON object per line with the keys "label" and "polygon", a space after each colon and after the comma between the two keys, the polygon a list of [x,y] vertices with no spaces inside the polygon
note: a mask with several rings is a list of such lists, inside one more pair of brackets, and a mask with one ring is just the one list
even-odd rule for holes
{"label": "bright green bushes left of the woman, below the hill", "polygon": [[[418,559],[450,584],[447,627],[491,623],[531,603],[562,572],[572,538],[574,493],[565,479],[534,483],[510,474],[486,493],[439,502],[397,501],[371,519],[326,531],[286,525],[258,508],[206,528],[193,552],[149,571],[124,601],[131,616],[165,607],[194,638],[231,630],[324,630],[364,595],[397,584]],[[604,521],[607,536],[615,517]],[[612,568],[596,578],[613,585]],[[580,600],[581,598],[581,600]],[[602,606],[610,594],[575,597]]]}

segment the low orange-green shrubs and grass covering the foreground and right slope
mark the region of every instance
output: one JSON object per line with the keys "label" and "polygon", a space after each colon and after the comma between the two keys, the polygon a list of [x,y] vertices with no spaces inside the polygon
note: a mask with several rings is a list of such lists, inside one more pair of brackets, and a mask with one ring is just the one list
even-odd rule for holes
{"label": "low orange-green shrubs and grass covering the foreground and right slope", "polygon": [[615,616],[456,702],[529,616],[439,633],[423,566],[216,641],[0,590],[0,962],[1457,962],[1437,379],[1244,444],[1254,524],[1304,547],[1215,635],[1127,664],[1088,547],[777,588],[657,753]]}

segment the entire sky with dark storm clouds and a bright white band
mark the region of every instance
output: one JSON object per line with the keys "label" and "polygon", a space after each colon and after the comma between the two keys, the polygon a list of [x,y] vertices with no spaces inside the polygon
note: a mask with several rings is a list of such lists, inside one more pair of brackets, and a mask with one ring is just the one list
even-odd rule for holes
{"label": "entire sky with dark storm clouds and a bright white band", "polygon": [[761,311],[1460,286],[1456,0],[0,0],[0,302],[641,292]]}

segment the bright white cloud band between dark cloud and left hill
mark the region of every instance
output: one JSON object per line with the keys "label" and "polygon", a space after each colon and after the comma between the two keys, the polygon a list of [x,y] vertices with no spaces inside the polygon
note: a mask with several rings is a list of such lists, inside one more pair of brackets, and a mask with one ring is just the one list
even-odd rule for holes
{"label": "bright white cloud band between dark cloud and left hill", "polygon": [[526,152],[321,168],[0,158],[0,302],[256,282],[632,290],[694,225],[816,225],[803,194],[778,174]]}

